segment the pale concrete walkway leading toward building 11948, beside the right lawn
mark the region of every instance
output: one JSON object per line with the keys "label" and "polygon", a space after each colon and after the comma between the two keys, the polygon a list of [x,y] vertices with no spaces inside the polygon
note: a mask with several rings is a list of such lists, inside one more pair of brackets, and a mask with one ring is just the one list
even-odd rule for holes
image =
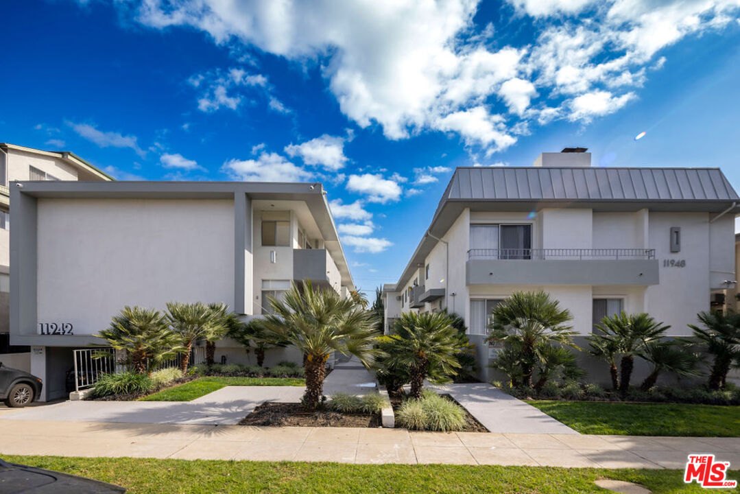
{"label": "pale concrete walkway leading toward building 11948, beside the right lawn", "polygon": [[492,433],[578,434],[550,415],[485,383],[435,387],[468,409]]}

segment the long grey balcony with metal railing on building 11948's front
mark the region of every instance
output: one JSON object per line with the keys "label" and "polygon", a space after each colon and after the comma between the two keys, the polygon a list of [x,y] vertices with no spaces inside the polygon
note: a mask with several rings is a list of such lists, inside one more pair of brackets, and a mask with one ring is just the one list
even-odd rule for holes
{"label": "long grey balcony with metal railing on building 11948's front", "polygon": [[471,249],[467,284],[658,284],[654,249]]}

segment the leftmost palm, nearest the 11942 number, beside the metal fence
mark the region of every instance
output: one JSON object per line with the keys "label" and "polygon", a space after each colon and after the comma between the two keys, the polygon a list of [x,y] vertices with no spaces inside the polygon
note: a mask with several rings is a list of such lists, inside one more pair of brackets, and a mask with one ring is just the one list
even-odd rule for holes
{"label": "leftmost palm, nearest the 11942 number, beside the metal fence", "polygon": [[115,350],[124,350],[124,362],[135,373],[147,373],[147,364],[156,365],[185,350],[163,314],[141,307],[124,307],[107,329],[93,336],[104,338]]}

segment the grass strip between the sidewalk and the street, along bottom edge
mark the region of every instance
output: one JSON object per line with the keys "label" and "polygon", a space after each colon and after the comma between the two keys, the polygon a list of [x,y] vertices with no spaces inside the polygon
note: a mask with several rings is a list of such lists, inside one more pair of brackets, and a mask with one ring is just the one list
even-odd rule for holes
{"label": "grass strip between the sidewalk and the street, along bottom edge", "polygon": [[[657,494],[705,492],[677,470],[595,470],[469,465],[349,465],[262,461],[6,456],[13,463],[84,475],[130,494],[173,493],[608,493],[593,484],[613,478]],[[739,478],[733,471],[729,478]],[[727,493],[733,490],[713,490]]]}

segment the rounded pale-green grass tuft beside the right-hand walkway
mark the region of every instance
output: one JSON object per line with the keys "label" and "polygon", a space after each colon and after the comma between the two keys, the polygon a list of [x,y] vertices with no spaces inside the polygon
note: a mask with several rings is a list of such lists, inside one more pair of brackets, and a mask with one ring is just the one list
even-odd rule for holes
{"label": "rounded pale-green grass tuft beside the right-hand walkway", "polygon": [[448,431],[465,427],[465,410],[429,390],[418,400],[404,401],[397,415],[399,423],[408,429]]}

